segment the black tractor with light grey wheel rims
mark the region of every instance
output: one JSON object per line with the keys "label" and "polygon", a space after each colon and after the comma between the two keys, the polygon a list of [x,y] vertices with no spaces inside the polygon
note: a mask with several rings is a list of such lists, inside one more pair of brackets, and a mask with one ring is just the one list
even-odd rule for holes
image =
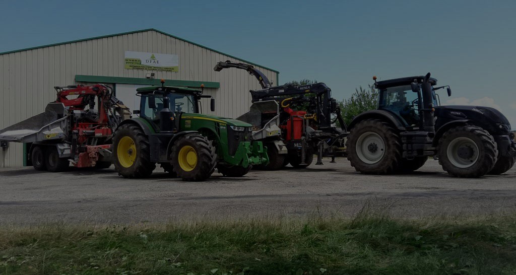
{"label": "black tractor with light grey wheel rims", "polygon": [[364,174],[410,172],[428,156],[450,175],[502,174],[514,165],[516,142],[507,118],[482,106],[440,106],[437,79],[412,76],[376,82],[378,108],[348,128],[348,159]]}

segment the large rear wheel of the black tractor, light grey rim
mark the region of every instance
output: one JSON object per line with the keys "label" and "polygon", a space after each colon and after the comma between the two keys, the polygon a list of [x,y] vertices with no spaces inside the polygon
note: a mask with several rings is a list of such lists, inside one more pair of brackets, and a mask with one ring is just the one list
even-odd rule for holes
{"label": "large rear wheel of the black tractor, light grey rim", "polygon": [[346,148],[351,166],[363,174],[391,174],[401,163],[398,132],[378,119],[367,119],[354,126]]}

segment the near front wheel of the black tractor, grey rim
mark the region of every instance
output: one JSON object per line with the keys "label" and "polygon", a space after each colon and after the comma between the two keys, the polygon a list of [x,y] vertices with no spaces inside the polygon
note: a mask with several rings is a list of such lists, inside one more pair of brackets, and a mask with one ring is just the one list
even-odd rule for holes
{"label": "near front wheel of the black tractor, grey rim", "polygon": [[496,163],[496,142],[477,126],[458,126],[448,130],[437,147],[439,164],[456,177],[480,177]]}

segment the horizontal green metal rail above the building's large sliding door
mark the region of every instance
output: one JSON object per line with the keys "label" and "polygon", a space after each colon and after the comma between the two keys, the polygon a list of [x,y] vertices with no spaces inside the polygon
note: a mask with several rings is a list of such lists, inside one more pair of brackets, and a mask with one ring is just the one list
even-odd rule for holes
{"label": "horizontal green metal rail above the building's large sliding door", "polygon": [[[161,85],[160,79],[136,78],[136,77],[118,77],[118,76],[100,76],[100,75],[75,75],[75,81],[78,82],[96,82],[96,83],[119,83],[119,84],[139,84],[139,85]],[[165,79],[167,86],[182,86],[200,88],[204,84],[205,88],[220,88],[219,82],[203,82],[190,80]]]}

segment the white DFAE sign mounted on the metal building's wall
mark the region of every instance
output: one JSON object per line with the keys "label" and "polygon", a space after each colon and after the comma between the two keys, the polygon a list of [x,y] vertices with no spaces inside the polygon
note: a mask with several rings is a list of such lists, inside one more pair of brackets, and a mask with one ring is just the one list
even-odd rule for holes
{"label": "white DFAE sign mounted on the metal building's wall", "polygon": [[179,71],[179,56],[175,54],[156,54],[142,52],[125,52],[125,69]]}

